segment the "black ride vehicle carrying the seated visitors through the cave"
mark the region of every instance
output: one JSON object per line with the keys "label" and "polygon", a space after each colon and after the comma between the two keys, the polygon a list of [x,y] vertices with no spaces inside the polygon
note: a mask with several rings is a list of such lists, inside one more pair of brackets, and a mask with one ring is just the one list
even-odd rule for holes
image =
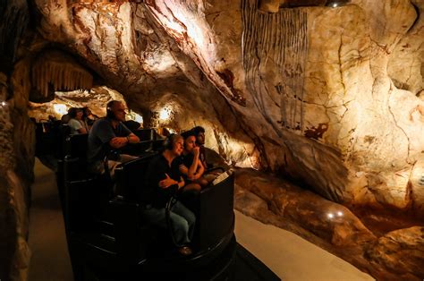
{"label": "black ride vehicle carrying the seated visitors through the cave", "polygon": [[135,148],[140,158],[117,166],[114,181],[108,173],[87,172],[87,135],[66,138],[57,179],[75,279],[233,280],[233,172],[224,171],[198,197],[185,202],[196,215],[196,230],[193,254],[182,257],[175,251],[172,233],[141,215],[148,204],[147,197],[143,200],[144,172],[162,142],[152,135],[140,132]]}

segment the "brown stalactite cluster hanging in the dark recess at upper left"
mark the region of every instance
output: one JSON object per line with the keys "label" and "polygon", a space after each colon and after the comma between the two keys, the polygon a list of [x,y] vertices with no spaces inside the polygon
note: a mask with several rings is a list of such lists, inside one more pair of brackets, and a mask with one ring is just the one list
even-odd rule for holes
{"label": "brown stalactite cluster hanging in the dark recess at upper left", "polygon": [[32,64],[32,85],[47,97],[49,85],[56,90],[91,89],[92,75],[69,55],[47,51]]}

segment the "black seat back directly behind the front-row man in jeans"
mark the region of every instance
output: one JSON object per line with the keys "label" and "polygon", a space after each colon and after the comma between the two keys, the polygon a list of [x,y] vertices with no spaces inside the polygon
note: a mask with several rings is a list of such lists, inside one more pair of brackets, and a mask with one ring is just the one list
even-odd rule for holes
{"label": "black seat back directly behind the front-row man in jeans", "polygon": [[114,170],[116,194],[130,202],[135,202],[138,199],[145,202],[149,201],[148,191],[143,188],[143,180],[150,160],[156,155],[157,153],[147,152],[140,158],[117,166]]}

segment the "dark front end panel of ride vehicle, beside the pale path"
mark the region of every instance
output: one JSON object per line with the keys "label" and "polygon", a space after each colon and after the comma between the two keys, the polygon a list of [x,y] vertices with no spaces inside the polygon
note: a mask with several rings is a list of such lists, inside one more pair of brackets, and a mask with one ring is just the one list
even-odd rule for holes
{"label": "dark front end panel of ride vehicle, beside the pale path", "polygon": [[228,234],[233,234],[234,173],[222,181],[214,181],[200,192],[199,201],[199,247],[207,250],[219,243]]}

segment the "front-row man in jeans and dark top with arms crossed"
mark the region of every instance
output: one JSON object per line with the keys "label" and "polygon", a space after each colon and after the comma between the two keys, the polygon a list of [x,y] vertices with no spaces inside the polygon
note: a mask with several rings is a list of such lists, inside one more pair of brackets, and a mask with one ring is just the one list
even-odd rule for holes
{"label": "front-row man in jeans and dark top with arms crossed", "polygon": [[[165,150],[153,158],[146,172],[145,183],[151,194],[152,204],[143,210],[143,215],[151,223],[166,227],[165,205],[172,197],[182,191],[184,180],[180,174],[178,158],[182,153],[182,136],[169,135],[165,140]],[[175,200],[170,209],[170,219],[175,243],[182,255],[190,255],[188,246],[194,232],[196,217],[182,202]]]}

